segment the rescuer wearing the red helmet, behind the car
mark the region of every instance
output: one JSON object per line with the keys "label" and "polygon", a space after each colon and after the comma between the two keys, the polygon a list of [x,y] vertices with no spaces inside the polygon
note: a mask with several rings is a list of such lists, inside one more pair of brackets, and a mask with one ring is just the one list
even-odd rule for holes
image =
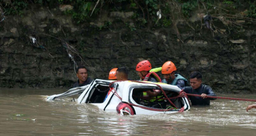
{"label": "rescuer wearing the red helmet, behind the car", "polygon": [[143,60],[137,64],[136,71],[140,77],[139,81],[161,82],[161,78],[155,72],[149,72],[151,68],[148,60]]}

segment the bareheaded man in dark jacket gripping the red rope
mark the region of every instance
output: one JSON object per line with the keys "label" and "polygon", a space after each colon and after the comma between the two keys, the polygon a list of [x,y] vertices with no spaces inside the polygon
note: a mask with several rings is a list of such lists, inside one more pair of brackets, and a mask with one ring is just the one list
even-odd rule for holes
{"label": "bareheaded man in dark jacket gripping the red rope", "polygon": [[216,99],[207,98],[207,96],[216,96],[216,94],[210,86],[202,84],[202,74],[198,71],[190,74],[190,86],[185,87],[184,92],[201,95],[201,97],[189,96],[192,105],[210,105],[210,100]]}

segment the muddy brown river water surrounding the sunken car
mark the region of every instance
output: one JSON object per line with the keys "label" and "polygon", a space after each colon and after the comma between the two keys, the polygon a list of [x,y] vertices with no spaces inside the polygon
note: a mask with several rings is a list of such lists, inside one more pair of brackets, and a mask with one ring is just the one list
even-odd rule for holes
{"label": "muddy brown river water surrounding the sunken car", "polygon": [[[194,106],[175,114],[122,116],[106,113],[71,98],[47,102],[67,89],[0,89],[1,136],[160,135],[255,136],[253,102],[217,99],[211,106]],[[256,94],[218,96],[256,99]],[[36,119],[36,120],[33,120]]]}

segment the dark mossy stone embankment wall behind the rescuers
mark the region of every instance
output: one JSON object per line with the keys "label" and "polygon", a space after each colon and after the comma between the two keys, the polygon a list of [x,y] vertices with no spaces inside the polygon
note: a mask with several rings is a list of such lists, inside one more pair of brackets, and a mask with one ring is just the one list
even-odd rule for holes
{"label": "dark mossy stone embankment wall behind the rescuers", "polygon": [[193,11],[188,22],[176,22],[177,36],[172,25],[141,26],[135,12],[106,8],[80,24],[58,6],[32,4],[22,16],[6,15],[0,23],[0,87],[71,87],[75,64],[100,79],[125,66],[129,79],[137,80],[136,64],[148,59],[153,67],[171,60],[186,78],[198,70],[216,92],[255,93],[256,30],[250,21],[236,19],[246,27],[231,27],[215,18],[216,32],[201,22],[205,12]]}

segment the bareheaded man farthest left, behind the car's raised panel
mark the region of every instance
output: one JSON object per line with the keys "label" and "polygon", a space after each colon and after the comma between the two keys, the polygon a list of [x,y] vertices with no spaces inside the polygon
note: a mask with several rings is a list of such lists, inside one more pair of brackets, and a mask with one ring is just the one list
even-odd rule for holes
{"label": "bareheaded man farthest left, behind the car's raised panel", "polygon": [[76,76],[78,81],[73,84],[73,88],[85,86],[92,82],[92,80],[88,77],[87,69],[84,66],[77,67]]}

